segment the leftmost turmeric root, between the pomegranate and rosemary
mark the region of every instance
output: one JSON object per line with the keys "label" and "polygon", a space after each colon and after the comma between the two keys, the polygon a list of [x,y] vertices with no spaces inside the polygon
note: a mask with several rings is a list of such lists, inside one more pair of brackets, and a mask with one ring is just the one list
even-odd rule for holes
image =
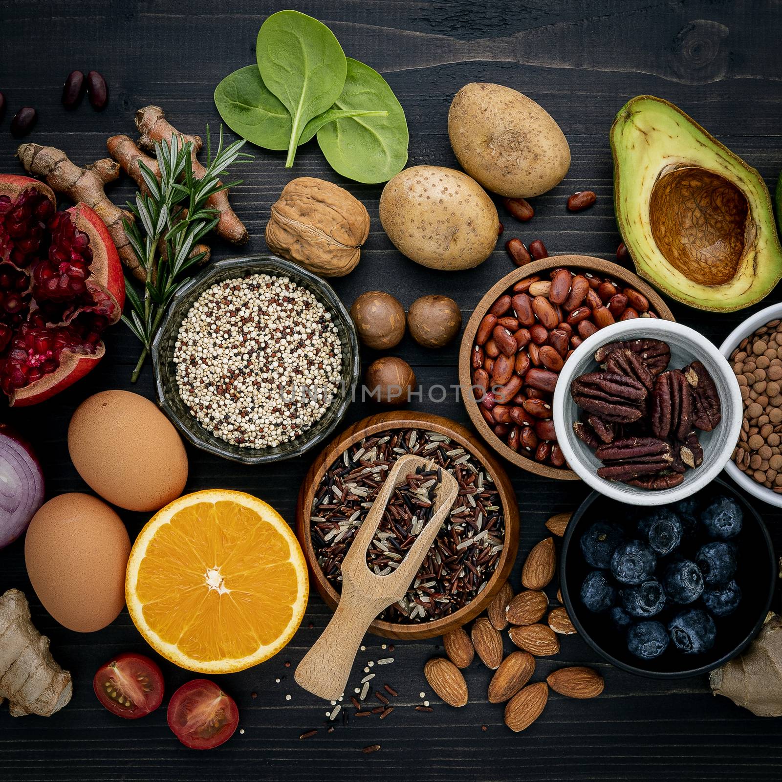
{"label": "leftmost turmeric root, between the pomegranate and rosemary", "polygon": [[94,209],[106,223],[122,262],[136,278],[144,279],[144,269],[127,241],[122,224],[123,219],[132,221],[133,216],[114,206],[103,192],[103,186],[120,175],[117,163],[110,158],[104,158],[80,168],[68,160],[62,149],[40,144],[23,144],[16,150],[16,156],[28,173],[45,178],[47,185],[53,190],[64,193],[74,202],[83,201]]}

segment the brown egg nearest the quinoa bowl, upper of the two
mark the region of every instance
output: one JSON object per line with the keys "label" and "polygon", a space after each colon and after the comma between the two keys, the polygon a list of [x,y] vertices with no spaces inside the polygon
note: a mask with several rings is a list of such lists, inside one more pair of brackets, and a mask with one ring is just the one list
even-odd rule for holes
{"label": "brown egg nearest the quinoa bowl, upper of the two", "polygon": [[77,407],[68,450],[79,475],[104,500],[158,511],[188,479],[188,455],[156,404],[129,391],[102,391]]}

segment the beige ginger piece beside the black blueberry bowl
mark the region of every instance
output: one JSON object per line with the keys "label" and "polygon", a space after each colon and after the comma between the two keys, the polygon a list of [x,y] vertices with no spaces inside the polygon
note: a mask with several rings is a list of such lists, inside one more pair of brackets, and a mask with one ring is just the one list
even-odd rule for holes
{"label": "beige ginger piece beside the black blueberry bowl", "polygon": [[782,616],[769,613],[747,651],[712,671],[708,680],[715,695],[759,717],[782,716]]}

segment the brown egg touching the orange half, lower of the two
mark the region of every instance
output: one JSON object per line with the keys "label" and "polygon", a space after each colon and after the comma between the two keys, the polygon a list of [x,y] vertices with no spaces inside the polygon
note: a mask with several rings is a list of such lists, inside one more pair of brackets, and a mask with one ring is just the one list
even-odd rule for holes
{"label": "brown egg touching the orange half, lower of the two", "polygon": [[35,594],[63,626],[91,633],[125,606],[131,541],[122,519],[91,494],[53,497],[33,516],[24,561]]}

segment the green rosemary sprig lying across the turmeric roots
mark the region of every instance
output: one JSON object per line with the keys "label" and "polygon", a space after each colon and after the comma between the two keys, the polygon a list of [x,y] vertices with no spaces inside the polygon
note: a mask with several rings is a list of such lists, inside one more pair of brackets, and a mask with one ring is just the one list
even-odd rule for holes
{"label": "green rosemary sprig lying across the turmeric roots", "polygon": [[127,209],[135,222],[124,221],[125,233],[131,243],[138,263],[146,273],[142,293],[131,279],[125,277],[125,292],[130,302],[130,317],[122,320],[142,343],[142,353],[131,375],[131,382],[138,380],[152,340],[155,339],[163,315],[174,291],[188,278],[186,271],[203,259],[204,253],[193,253],[193,246],[217,225],[220,213],[206,207],[206,199],[225,188],[239,185],[240,181],[220,184],[220,178],[228,174],[230,167],[240,156],[245,142],[237,141],[223,148],[223,129],[220,142],[212,158],[209,126],[206,126],[206,174],[195,178],[192,169],[192,142],[182,144],[175,135],[170,143],[155,145],[155,156],[160,169],[160,181],[148,166],[139,161],[145,185],[149,192],[136,193],[135,203]]}

